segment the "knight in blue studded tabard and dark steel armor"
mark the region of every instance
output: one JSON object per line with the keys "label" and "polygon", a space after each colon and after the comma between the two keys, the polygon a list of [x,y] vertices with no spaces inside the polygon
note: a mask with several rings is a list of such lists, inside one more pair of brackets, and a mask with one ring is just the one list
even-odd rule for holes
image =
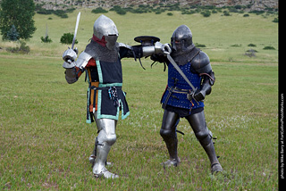
{"label": "knight in blue studded tabard and dark steel armor", "polygon": [[210,60],[206,53],[193,44],[192,33],[186,25],[174,30],[171,46],[173,61],[196,89],[189,86],[165,55],[152,55],[154,61],[166,62],[168,65],[168,85],[161,100],[164,115],[160,135],[164,139],[170,158],[163,164],[169,167],[177,166],[181,162],[177,152],[176,128],[180,118],[185,118],[206,151],[212,173],[222,171],[223,168],[214,151],[212,133],[206,127],[204,112],[204,99],[211,93],[214,85],[214,71]]}

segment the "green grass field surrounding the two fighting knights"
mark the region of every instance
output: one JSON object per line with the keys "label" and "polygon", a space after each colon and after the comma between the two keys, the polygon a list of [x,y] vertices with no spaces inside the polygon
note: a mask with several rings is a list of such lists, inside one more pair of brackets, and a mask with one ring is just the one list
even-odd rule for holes
{"label": "green grass field surrounding the two fighting knights", "polygon": [[[82,9],[80,52],[92,36],[99,14]],[[223,173],[211,175],[209,162],[187,120],[178,127],[181,165],[165,169],[167,150],[159,135],[163,110],[160,99],[167,82],[163,65],[151,69],[149,59],[123,59],[123,89],[130,117],[119,120],[117,141],[108,160],[120,179],[95,179],[88,163],[96,124],[85,123],[84,77],[72,85],[64,79],[59,43],[73,32],[76,15],[68,19],[36,15],[37,31],[28,42],[29,54],[11,54],[17,46],[0,41],[0,189],[11,190],[278,190],[278,25],[274,15],[173,12],[132,14],[108,12],[116,23],[119,42],[136,45],[134,37],[153,35],[169,43],[172,31],[186,24],[195,43],[209,55],[216,81],[206,97],[206,122],[215,140]],[[52,20],[48,20],[48,18]],[[44,44],[48,35],[53,43]],[[255,44],[256,47],[249,47]],[[233,46],[238,45],[238,46]],[[273,46],[276,50],[264,50]],[[245,52],[256,49],[256,57]]]}

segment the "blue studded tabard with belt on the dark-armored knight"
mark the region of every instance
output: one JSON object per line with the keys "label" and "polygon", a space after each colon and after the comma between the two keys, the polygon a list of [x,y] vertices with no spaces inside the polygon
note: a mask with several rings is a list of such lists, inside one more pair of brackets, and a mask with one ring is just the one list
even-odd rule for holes
{"label": "blue studded tabard with belt on the dark-armored knight", "polygon": [[[184,65],[179,65],[181,71],[187,76],[189,81],[194,87],[200,88],[201,77],[197,73],[192,73],[190,71],[191,62]],[[161,103],[163,107],[165,105],[170,105],[172,107],[179,107],[183,109],[197,109],[204,107],[202,101],[196,102],[194,99],[190,102],[187,98],[187,93],[192,88],[189,86],[187,81],[181,77],[181,74],[172,66],[171,63],[168,64],[168,86],[166,87],[164,94],[162,96]]]}

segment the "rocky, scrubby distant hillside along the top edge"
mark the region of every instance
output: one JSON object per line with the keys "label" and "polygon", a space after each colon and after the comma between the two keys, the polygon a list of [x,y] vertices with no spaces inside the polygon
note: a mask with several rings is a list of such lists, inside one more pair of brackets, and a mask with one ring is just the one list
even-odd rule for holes
{"label": "rocky, scrubby distant hillside along the top edge", "polygon": [[[0,0],[1,1],[1,0]],[[216,7],[223,6],[244,6],[248,11],[277,10],[278,0],[34,0],[36,4],[47,10],[61,10],[71,7],[103,7],[112,8],[115,5],[122,8],[139,5],[165,6],[170,4],[178,4],[179,6],[191,5],[214,5]]]}

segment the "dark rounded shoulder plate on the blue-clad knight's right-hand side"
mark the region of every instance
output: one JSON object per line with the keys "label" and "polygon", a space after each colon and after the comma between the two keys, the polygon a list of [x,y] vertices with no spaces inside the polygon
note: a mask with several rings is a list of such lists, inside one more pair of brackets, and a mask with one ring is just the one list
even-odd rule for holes
{"label": "dark rounded shoulder plate on the blue-clad knight's right-hand side", "polygon": [[212,71],[212,66],[206,53],[200,51],[191,61],[191,67],[198,73],[209,73]]}

